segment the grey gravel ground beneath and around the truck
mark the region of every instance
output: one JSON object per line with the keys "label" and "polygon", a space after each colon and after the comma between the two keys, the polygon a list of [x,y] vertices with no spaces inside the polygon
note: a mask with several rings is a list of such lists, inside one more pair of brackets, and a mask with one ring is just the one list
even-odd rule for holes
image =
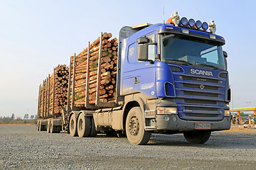
{"label": "grey gravel ground beneath and around the truck", "polygon": [[35,125],[0,125],[0,169],[255,169],[256,133],[213,132],[203,145],[183,135],[155,135],[148,145],[127,138],[71,137]]}

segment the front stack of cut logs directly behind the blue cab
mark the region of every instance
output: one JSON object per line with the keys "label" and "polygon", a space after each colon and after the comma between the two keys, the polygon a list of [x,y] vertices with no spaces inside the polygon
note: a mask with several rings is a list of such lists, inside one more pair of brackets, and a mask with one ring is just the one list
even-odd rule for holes
{"label": "front stack of cut logs directly behind the blue cab", "polygon": [[[102,60],[101,60],[101,81],[100,81],[100,101],[115,102],[116,77],[117,77],[117,38],[112,38],[111,33],[102,35]],[[85,88],[87,72],[87,51],[86,48],[75,57],[75,94],[74,105],[76,107],[85,106]],[[97,68],[100,52],[100,38],[97,38],[90,45],[90,76],[89,76],[89,103],[95,104],[97,88]],[[71,57],[71,69],[73,69],[73,57]],[[73,74],[71,75],[73,83]],[[72,96],[71,96],[72,97]],[[70,99],[71,99],[70,97]]]}

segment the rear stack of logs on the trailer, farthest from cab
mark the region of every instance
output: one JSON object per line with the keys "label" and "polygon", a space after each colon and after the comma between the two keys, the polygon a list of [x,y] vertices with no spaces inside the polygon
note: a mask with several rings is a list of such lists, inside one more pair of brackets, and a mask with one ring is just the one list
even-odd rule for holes
{"label": "rear stack of logs on the trailer, farthest from cab", "polygon": [[[54,74],[54,76],[53,76]],[[54,89],[53,89],[54,77]],[[54,103],[53,103],[54,92]],[[53,115],[60,115],[61,108],[68,101],[68,67],[66,65],[58,65],[53,73],[43,81],[41,86],[41,108],[40,115],[42,118],[49,118]],[[53,106],[54,105],[54,106]],[[54,107],[54,108],[53,108]],[[53,110],[54,109],[54,110]]]}

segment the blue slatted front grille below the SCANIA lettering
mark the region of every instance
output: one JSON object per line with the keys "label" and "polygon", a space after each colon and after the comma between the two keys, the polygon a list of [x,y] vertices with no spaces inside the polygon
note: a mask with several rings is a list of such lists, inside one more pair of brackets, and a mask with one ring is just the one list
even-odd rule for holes
{"label": "blue slatted front grille below the SCANIA lettering", "polygon": [[183,120],[222,120],[225,74],[212,71],[214,77],[206,77],[192,75],[186,67],[183,69],[184,73],[174,73],[179,117]]}

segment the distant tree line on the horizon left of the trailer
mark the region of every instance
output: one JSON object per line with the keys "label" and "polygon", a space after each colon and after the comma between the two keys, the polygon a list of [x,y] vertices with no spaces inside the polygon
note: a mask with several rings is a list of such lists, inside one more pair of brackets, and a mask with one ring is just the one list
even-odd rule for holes
{"label": "distant tree line on the horizon left of the trailer", "polygon": [[0,124],[26,124],[26,123],[35,123],[36,124],[37,115],[31,115],[28,114],[24,115],[24,118],[21,117],[15,118],[14,113],[12,113],[11,117],[9,116],[0,116]]}

